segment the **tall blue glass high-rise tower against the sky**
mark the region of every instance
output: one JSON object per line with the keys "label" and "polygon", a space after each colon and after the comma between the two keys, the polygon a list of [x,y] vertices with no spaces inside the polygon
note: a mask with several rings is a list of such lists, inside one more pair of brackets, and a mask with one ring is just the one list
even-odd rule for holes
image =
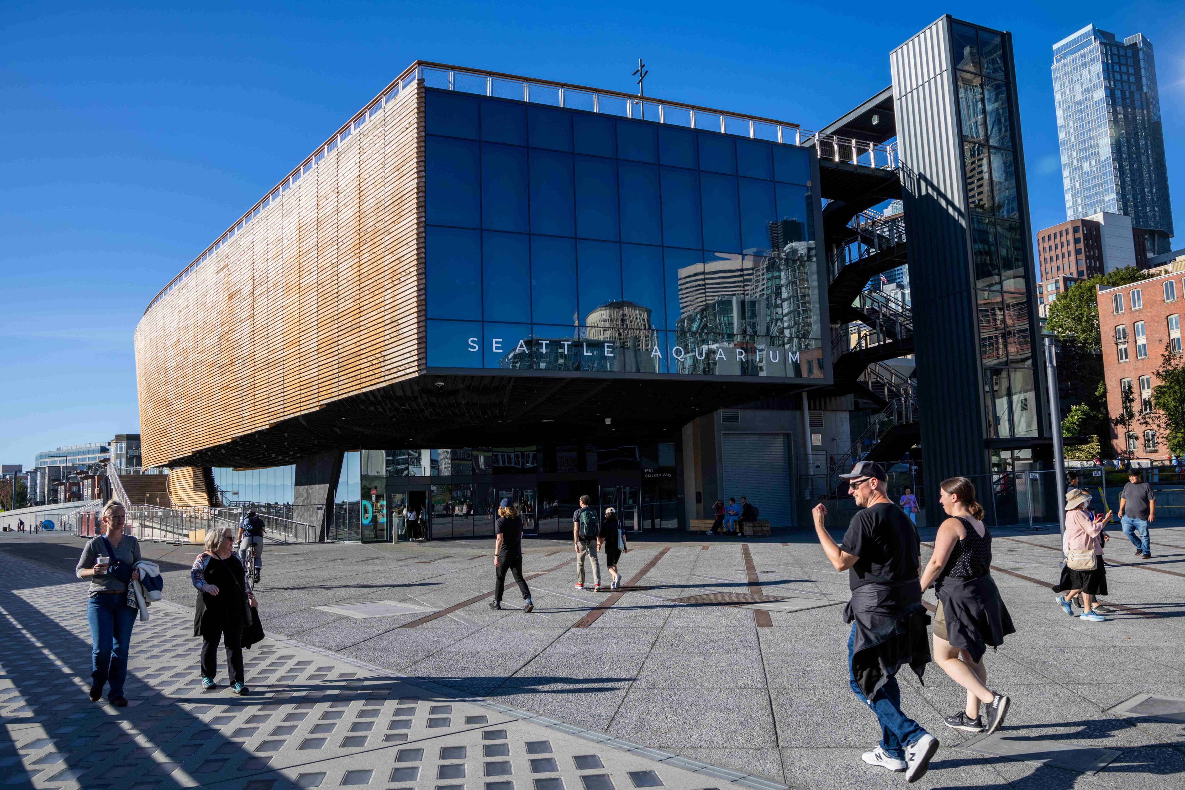
{"label": "tall blue glass high-rise tower against the sky", "polygon": [[1146,231],[1139,253],[1168,252],[1173,216],[1152,43],[1083,27],[1053,45],[1053,95],[1066,219],[1125,214]]}

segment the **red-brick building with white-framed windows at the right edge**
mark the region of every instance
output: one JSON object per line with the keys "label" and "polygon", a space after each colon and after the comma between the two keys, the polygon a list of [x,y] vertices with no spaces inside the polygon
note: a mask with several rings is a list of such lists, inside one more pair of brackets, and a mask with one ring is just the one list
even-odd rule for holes
{"label": "red-brick building with white-framed windows at the right edge", "polygon": [[1129,458],[1168,458],[1168,447],[1141,417],[1152,410],[1152,388],[1158,381],[1165,348],[1181,351],[1181,314],[1185,313],[1185,261],[1174,262],[1158,277],[1128,285],[1098,288],[1098,326],[1102,330],[1107,411],[1117,417],[1121,393],[1132,393],[1135,419],[1127,436],[1112,426],[1112,445]]}

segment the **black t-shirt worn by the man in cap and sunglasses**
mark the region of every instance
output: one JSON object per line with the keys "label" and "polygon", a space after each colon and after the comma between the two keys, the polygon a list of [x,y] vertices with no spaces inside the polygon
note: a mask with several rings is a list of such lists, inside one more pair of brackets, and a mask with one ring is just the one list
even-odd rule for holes
{"label": "black t-shirt worn by the man in cap and sunglasses", "polygon": [[922,541],[917,527],[896,505],[880,502],[854,516],[839,547],[860,559],[848,571],[852,590],[865,584],[916,579]]}

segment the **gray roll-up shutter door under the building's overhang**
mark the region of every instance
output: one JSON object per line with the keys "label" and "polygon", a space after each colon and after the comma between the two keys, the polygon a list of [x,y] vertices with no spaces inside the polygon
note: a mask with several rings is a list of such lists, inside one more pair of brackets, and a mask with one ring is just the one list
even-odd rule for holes
{"label": "gray roll-up shutter door under the building's overhang", "polygon": [[724,503],[747,496],[771,527],[794,522],[786,433],[723,433]]}

